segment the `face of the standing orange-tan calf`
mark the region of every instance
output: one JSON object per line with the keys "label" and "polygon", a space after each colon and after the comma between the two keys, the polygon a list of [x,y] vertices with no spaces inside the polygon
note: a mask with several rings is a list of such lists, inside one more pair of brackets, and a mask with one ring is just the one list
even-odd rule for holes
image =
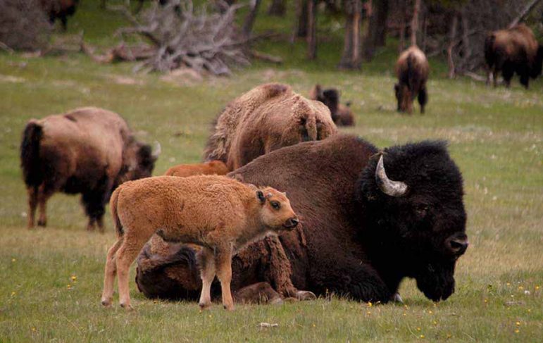
{"label": "face of the standing orange-tan calf", "polygon": [[287,194],[271,187],[258,189],[256,197],[261,203],[261,220],[272,230],[294,230],[298,216],[290,206]]}

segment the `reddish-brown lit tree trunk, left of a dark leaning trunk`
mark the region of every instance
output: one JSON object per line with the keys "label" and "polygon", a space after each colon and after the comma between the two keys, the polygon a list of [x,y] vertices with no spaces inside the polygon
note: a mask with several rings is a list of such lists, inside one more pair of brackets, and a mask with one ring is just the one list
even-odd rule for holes
{"label": "reddish-brown lit tree trunk, left of a dark leaning trunk", "polygon": [[345,39],[339,68],[358,69],[361,67],[360,24],[362,4],[360,0],[346,0]]}

